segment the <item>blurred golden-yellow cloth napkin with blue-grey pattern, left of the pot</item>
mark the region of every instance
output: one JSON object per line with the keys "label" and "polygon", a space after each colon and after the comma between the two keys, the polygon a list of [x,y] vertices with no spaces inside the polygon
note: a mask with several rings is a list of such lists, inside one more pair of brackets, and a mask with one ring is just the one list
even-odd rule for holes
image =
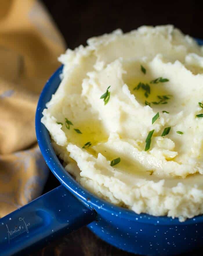
{"label": "blurred golden-yellow cloth napkin with blue-grey pattern, left of the pot", "polygon": [[35,137],[35,110],[65,43],[44,6],[1,0],[0,218],[39,196],[48,175]]}

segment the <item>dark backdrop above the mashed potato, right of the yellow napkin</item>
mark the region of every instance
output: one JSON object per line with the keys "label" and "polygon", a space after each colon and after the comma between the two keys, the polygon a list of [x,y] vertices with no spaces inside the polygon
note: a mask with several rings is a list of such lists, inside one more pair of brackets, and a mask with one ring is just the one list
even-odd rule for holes
{"label": "dark backdrop above the mashed potato, right of the yellow napkin", "polygon": [[124,32],[142,25],[174,24],[183,33],[202,37],[201,1],[68,1],[43,0],[68,48],[117,28]]}

